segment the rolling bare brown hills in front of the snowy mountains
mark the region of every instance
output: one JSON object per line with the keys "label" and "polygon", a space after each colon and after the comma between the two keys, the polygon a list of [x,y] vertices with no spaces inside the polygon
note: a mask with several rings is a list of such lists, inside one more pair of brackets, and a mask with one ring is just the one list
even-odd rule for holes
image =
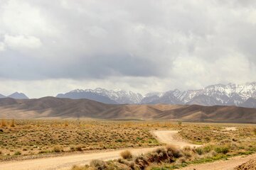
{"label": "rolling bare brown hills in front of the snowy mountains", "polygon": [[256,123],[255,108],[236,106],[114,105],[90,101],[44,97],[0,98],[0,118],[99,118],[139,120],[183,120],[193,122]]}

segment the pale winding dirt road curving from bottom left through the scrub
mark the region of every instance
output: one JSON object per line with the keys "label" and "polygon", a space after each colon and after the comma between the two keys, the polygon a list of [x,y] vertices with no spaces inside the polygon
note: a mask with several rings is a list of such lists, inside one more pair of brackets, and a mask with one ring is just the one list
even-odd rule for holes
{"label": "pale winding dirt road curving from bottom left through the scrub", "polygon": [[[164,130],[164,131],[154,131],[154,135],[163,143],[173,144],[178,147],[184,146],[193,146],[188,142],[183,142],[178,140],[175,136],[178,133],[177,130]],[[129,149],[132,154],[143,154],[146,152],[150,152],[154,148],[143,148],[143,149]],[[114,150],[114,151],[102,151],[97,153],[85,153],[85,154],[73,154],[63,157],[51,157],[51,158],[43,158],[43,159],[32,159],[25,160],[20,162],[0,162],[1,170],[64,170],[70,169],[73,165],[83,165],[89,164],[92,159],[102,159],[102,160],[110,160],[110,159],[118,159],[120,152],[125,149]]]}

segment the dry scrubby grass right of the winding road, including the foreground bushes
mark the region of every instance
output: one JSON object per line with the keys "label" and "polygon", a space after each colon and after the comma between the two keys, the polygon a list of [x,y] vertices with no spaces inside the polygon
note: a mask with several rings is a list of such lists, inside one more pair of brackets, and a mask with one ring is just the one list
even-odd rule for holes
{"label": "dry scrubby grass right of the winding road, including the foreground bushes", "polygon": [[[143,125],[143,124],[142,124]],[[105,162],[105,169],[178,169],[189,164],[213,162],[237,155],[256,152],[255,125],[236,125],[236,130],[225,130],[225,124],[183,123],[182,126],[164,122],[148,123],[145,128],[154,130],[181,130],[185,140],[204,144],[202,147],[177,149],[173,145],[159,147],[148,154]],[[83,167],[90,169],[92,166]]]}

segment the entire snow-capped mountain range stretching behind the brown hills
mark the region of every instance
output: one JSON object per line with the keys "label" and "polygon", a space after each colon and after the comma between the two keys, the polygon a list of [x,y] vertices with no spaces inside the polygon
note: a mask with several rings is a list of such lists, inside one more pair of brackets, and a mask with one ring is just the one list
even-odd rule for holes
{"label": "entire snow-capped mountain range stretching behind the brown hills", "polygon": [[215,84],[203,89],[153,92],[146,95],[121,89],[76,89],[58,98],[87,98],[110,104],[174,104],[201,106],[242,106],[256,108],[256,82],[246,84]]}

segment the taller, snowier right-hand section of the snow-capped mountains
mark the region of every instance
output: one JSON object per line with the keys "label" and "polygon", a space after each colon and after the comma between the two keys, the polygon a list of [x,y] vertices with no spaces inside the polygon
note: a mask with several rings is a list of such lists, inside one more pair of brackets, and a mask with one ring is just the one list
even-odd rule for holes
{"label": "taller, snowier right-hand section of the snow-capped mountains", "polygon": [[[178,101],[174,102],[175,98]],[[178,91],[176,89],[174,91],[165,92],[159,96],[159,98],[156,98],[155,96],[149,96],[146,98],[146,101],[150,101],[151,103],[183,103],[198,104],[203,106],[243,106],[243,103],[245,103],[248,98],[256,98],[256,82],[227,85],[215,84],[206,86],[204,89],[188,91]]]}

